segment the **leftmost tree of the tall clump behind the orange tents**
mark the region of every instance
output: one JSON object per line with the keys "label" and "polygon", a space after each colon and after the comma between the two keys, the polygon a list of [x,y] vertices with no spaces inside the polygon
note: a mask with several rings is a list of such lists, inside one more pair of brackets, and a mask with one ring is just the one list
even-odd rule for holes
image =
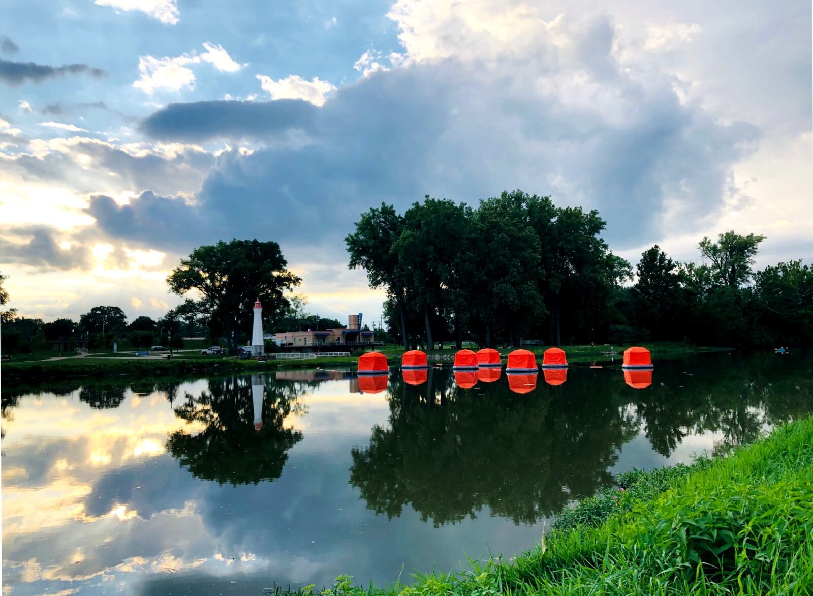
{"label": "leftmost tree of the tall clump behind the orange tents", "polygon": [[354,233],[347,235],[345,243],[350,254],[350,269],[365,270],[370,287],[385,287],[387,294],[392,296],[401,319],[404,348],[409,349],[409,331],[406,326],[409,285],[398,253],[393,252],[403,226],[404,219],[396,213],[395,208],[382,203],[380,208],[372,208],[361,214]]}

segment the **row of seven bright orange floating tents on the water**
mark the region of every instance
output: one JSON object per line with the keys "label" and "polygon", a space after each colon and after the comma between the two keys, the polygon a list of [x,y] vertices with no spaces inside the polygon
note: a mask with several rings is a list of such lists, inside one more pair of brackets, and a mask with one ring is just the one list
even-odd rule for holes
{"label": "row of seven bright orange floating tents on the water", "polygon": [[[429,366],[426,353],[420,350],[404,352],[401,358],[401,368],[415,370]],[[477,352],[472,350],[459,350],[454,354],[452,370],[477,370],[480,367],[502,366],[500,353],[493,348],[484,348]],[[567,368],[567,357],[561,348],[549,348],[542,355],[542,365],[545,368]],[[652,368],[650,351],[640,346],[624,350],[624,369]],[[519,349],[508,354],[506,373],[532,372],[539,370],[537,357],[533,352]],[[380,352],[367,352],[359,357],[359,373],[362,375],[383,375],[389,372],[387,357]]]}

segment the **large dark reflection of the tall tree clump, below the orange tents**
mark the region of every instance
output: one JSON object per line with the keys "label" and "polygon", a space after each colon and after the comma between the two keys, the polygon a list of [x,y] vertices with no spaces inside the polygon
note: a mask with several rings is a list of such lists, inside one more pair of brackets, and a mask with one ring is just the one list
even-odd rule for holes
{"label": "large dark reflection of the tall tree clump, below the orange tents", "polygon": [[[449,370],[411,386],[393,375],[389,428],[354,448],[350,483],[389,518],[407,504],[435,525],[492,515],[534,523],[611,481],[618,449],[638,432],[615,396],[565,403],[506,383],[455,388]],[[590,397],[592,396],[592,397]]]}

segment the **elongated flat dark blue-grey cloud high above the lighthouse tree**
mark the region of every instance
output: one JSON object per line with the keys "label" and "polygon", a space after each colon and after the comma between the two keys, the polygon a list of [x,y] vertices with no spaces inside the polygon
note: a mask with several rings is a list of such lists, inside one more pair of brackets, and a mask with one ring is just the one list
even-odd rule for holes
{"label": "elongated flat dark blue-grey cloud high above the lighthouse tree", "polygon": [[170,103],[146,118],[140,128],[152,138],[185,142],[271,138],[293,129],[311,129],[318,109],[302,99]]}

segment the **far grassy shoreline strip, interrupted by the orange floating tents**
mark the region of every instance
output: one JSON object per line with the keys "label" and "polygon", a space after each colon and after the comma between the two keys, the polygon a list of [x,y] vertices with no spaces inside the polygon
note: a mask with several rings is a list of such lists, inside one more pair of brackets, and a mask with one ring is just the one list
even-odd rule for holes
{"label": "far grassy shoreline strip, interrupted by the orange floating tents", "polygon": [[[650,352],[657,364],[658,358],[673,359],[691,356],[697,353],[730,352],[732,348],[698,348],[685,344],[654,343],[649,344]],[[628,347],[628,346],[627,346]],[[615,346],[613,347],[615,348]],[[567,346],[567,359],[572,364],[607,365],[619,363],[626,347],[619,346],[618,351],[607,353],[607,346]],[[534,347],[533,352],[541,358],[545,347]],[[400,364],[402,348],[385,348],[382,350],[389,358],[389,366]],[[447,364],[454,359],[454,348],[434,350],[428,353],[432,364]],[[505,356],[511,349],[501,349]],[[245,372],[259,373],[273,370],[302,368],[324,368],[329,366],[349,367],[356,370],[358,357],[317,357],[302,359],[240,360],[236,357],[175,357],[172,359],[137,359],[125,357],[64,357],[59,360],[35,360],[24,362],[3,362],[0,365],[0,379],[9,383],[30,381],[33,379],[56,380],[80,377],[103,378],[123,375],[220,375],[221,373]]]}

